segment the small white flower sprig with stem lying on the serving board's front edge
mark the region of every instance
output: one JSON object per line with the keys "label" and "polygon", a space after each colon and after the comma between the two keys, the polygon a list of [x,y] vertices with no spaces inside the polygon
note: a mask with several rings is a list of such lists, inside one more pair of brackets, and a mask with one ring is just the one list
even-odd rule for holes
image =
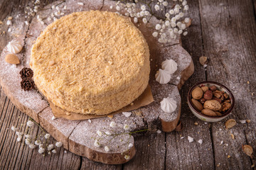
{"label": "small white flower sprig with stem lying on the serving board's front edge", "polygon": [[[127,150],[125,152],[127,152],[129,149],[131,149],[134,145],[130,142],[130,139],[132,137],[132,134],[134,133],[138,133],[138,132],[144,132],[147,131],[148,129],[144,129],[144,130],[137,130],[134,132],[130,132],[129,129],[129,125],[127,124],[118,124],[115,123],[114,121],[112,121],[110,123],[110,128],[112,128],[113,130],[106,130],[105,128],[103,128],[102,130],[97,130],[95,132],[95,137],[91,137],[94,140],[94,145],[95,147],[104,147],[105,152],[110,152],[111,148],[110,146],[108,146],[108,144],[110,144],[110,142],[112,140],[114,140],[114,138],[120,136],[120,135],[129,135],[129,138],[127,141],[125,141],[122,145],[126,145],[127,146]],[[117,130],[118,128],[118,130]],[[102,144],[102,140],[107,140],[107,145],[103,145]],[[123,140],[121,140],[121,142],[123,142]],[[117,147],[121,147],[122,145],[119,145]],[[122,153],[123,154],[123,153]],[[124,155],[124,159],[129,159],[130,156],[129,155]]]}

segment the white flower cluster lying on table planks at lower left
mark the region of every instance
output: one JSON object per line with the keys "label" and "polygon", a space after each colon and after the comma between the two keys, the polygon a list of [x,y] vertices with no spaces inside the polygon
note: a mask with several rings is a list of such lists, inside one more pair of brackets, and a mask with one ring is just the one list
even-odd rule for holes
{"label": "white flower cluster lying on table planks at lower left", "polygon": [[[44,140],[43,140],[43,143],[41,142],[41,139],[40,139],[40,136],[41,135],[38,135],[37,137],[33,137],[32,135],[30,135],[31,133],[31,128],[34,126],[34,125],[38,125],[37,123],[34,123],[33,120],[28,120],[28,122],[26,123],[27,125],[27,130],[28,130],[28,133],[25,136],[25,144],[28,145],[29,148],[31,149],[35,149],[37,146],[38,146],[38,153],[39,154],[43,154],[43,156],[45,155],[45,152],[46,152],[46,149],[48,150],[48,154],[50,154],[50,152],[52,153],[57,153],[56,150],[54,149],[54,145],[53,144],[48,144],[48,139],[50,138],[50,134],[48,133],[44,133]],[[39,125],[38,125],[39,126]],[[16,135],[18,136],[17,137],[17,141],[18,142],[21,142],[22,139],[23,139],[23,133],[22,132],[18,132],[17,131],[17,128],[12,126],[11,127],[11,130],[13,130],[14,132],[16,132]],[[34,140],[34,139],[35,140]],[[33,141],[34,140],[34,141]],[[63,145],[62,142],[56,142],[55,143],[55,146],[56,147],[61,147]]]}

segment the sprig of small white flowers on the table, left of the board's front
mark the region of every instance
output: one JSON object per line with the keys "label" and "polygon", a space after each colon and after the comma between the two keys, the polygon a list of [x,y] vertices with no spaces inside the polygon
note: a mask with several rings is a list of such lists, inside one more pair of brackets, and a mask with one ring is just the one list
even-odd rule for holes
{"label": "sprig of small white flowers on the table, left of the board's front", "polygon": [[[37,135],[36,137],[33,137],[31,133],[33,132],[33,129],[37,125],[41,129],[41,134]],[[62,147],[63,143],[62,142],[55,142],[55,147],[53,144],[49,143],[50,139],[50,134],[46,133],[45,130],[36,123],[35,120],[32,118],[29,118],[27,123],[26,123],[26,130],[24,134],[22,132],[18,132],[18,129],[14,126],[11,127],[11,130],[16,132],[17,137],[17,142],[24,142],[26,145],[28,145],[29,148],[35,149],[38,146],[38,153],[43,154],[43,157],[46,156],[46,153],[57,153],[55,147]],[[24,140],[23,140],[24,137]]]}

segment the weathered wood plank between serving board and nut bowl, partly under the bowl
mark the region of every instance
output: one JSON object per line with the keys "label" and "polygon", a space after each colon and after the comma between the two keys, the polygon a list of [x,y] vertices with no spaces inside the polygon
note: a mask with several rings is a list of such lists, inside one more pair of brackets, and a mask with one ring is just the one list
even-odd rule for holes
{"label": "weathered wood plank between serving board and nut bowl, partly under the bowl", "polygon": [[[209,124],[198,120],[188,108],[188,90],[200,81],[206,80],[203,66],[198,59],[203,55],[203,42],[201,37],[201,20],[199,16],[198,1],[188,1],[190,10],[187,13],[192,18],[188,28],[188,35],[182,36],[182,45],[191,54],[195,72],[183,85],[181,93],[181,122],[182,132],[171,132],[166,135],[166,169],[214,169],[213,147],[210,137]],[[194,125],[198,123],[198,125]],[[189,143],[188,136],[194,141]],[[198,140],[203,140],[199,144]]]}

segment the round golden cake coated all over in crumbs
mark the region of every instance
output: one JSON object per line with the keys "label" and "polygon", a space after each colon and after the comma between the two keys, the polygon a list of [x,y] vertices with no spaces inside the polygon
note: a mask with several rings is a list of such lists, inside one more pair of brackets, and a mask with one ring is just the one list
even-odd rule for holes
{"label": "round golden cake coated all over in crumbs", "polygon": [[105,115],[138,98],[149,82],[149,47],[129,18],[71,13],[51,23],[31,49],[33,79],[55,106]]}

